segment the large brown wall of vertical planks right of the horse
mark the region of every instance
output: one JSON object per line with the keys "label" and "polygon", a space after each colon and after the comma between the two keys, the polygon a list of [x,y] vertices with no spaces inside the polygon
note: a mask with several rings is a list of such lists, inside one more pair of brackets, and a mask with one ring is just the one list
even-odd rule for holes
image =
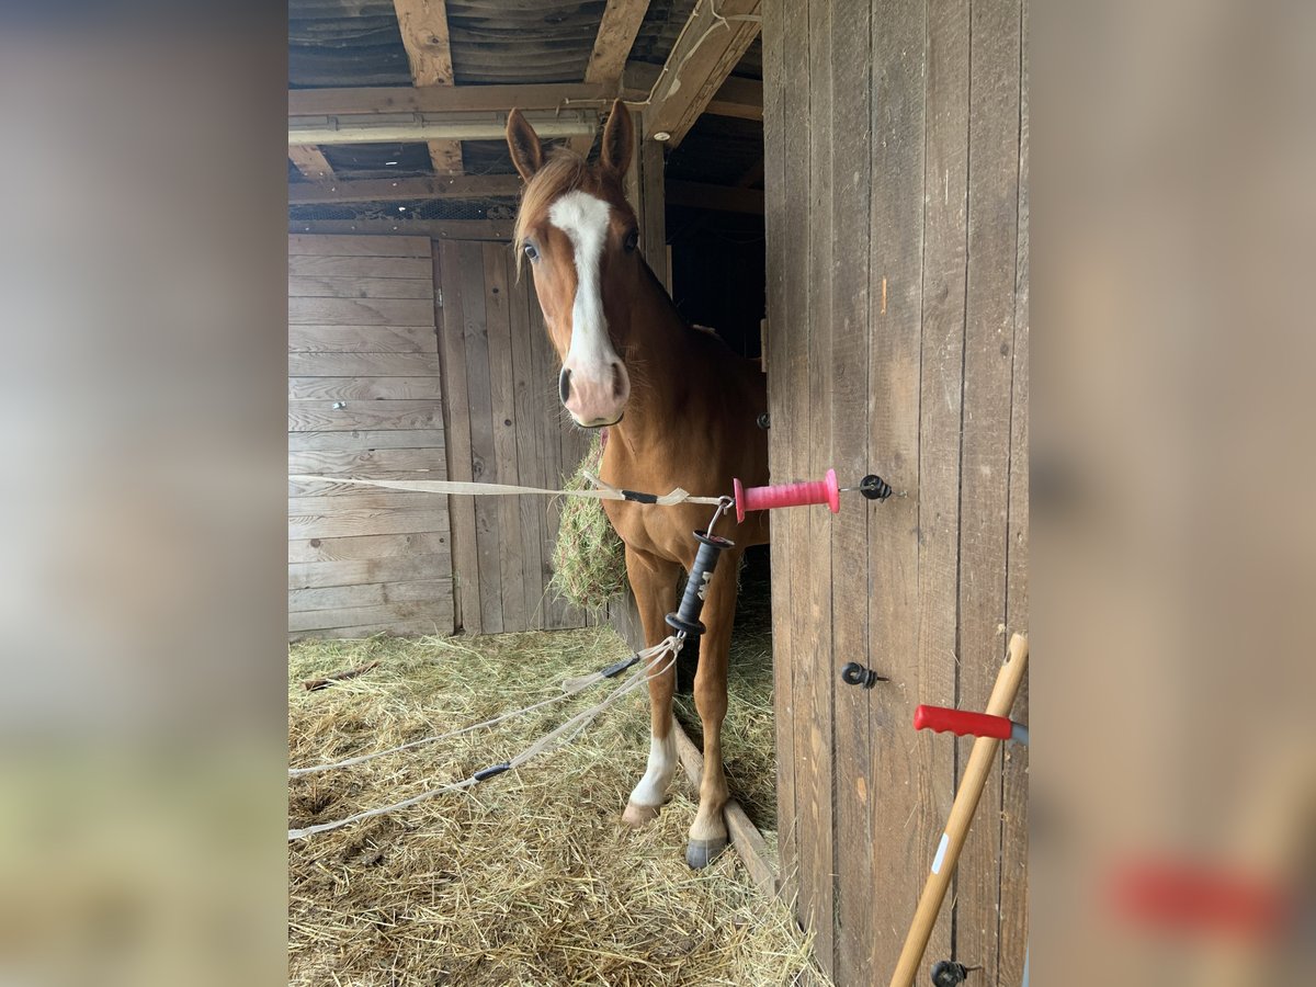
{"label": "large brown wall of vertical planks right of the horse", "polygon": [[[772,476],[908,491],[772,519],[783,870],[841,984],[888,982],[966,762],[915,705],[982,709],[1028,626],[1025,50],[1020,0],[763,5]],[[1020,982],[1026,771],[1007,747],[917,982]]]}

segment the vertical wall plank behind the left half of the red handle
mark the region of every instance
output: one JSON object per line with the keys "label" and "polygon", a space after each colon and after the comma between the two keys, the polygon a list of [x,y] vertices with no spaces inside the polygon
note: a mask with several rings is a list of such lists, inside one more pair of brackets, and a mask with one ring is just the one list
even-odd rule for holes
{"label": "vertical wall plank behind the left half of the red handle", "polygon": [[[969,168],[969,0],[928,5],[928,107],[924,166],[923,391],[919,443],[919,690],[917,701],[955,705],[959,641],[959,454],[963,421],[965,241]],[[948,662],[953,655],[955,663]],[[907,701],[915,701],[908,696]],[[958,776],[954,745],[920,734],[917,792],[932,861]],[[911,903],[911,909],[913,903]],[[912,911],[911,911],[912,913]],[[919,979],[954,955],[953,908],[933,929]]]}

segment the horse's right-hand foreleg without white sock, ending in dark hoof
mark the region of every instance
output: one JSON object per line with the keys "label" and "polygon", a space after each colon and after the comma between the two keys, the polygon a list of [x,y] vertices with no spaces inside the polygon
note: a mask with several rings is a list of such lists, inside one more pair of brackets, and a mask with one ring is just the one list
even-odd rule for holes
{"label": "horse's right-hand foreleg without white sock, ending in dark hoof", "polygon": [[695,674],[695,707],[704,728],[704,778],[699,786],[699,812],[690,828],[686,863],[705,867],[726,848],[726,772],[722,770],[722,719],[726,716],[726,657],[736,620],[736,590],[740,553],[728,553],[704,597],[703,621],[708,628],[699,642]]}

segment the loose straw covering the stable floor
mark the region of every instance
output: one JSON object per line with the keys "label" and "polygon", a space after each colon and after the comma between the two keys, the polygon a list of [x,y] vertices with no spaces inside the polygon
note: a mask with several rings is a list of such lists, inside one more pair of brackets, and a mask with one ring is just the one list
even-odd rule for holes
{"label": "loose straw covering the stable floor", "polygon": [[[290,649],[290,758],[311,765],[526,705],[626,653],[608,629]],[[378,659],[349,682],[300,680]],[[604,686],[492,732],[290,783],[290,825],[395,801],[505,759]],[[822,984],[780,901],[734,850],[686,867],[690,786],[619,824],[647,751],[628,696],[572,746],[463,794],[290,844],[292,984]]]}

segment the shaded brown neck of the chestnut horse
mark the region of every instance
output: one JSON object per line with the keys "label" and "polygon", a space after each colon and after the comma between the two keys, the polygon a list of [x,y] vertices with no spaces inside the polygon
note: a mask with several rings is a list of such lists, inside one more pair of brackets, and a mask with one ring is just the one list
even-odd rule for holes
{"label": "shaded brown neck of the chestnut horse", "polygon": [[692,330],[647,263],[645,275],[630,313],[628,365],[634,367],[630,400],[625,417],[613,426],[632,446],[666,436],[684,395],[699,386],[703,372]]}

